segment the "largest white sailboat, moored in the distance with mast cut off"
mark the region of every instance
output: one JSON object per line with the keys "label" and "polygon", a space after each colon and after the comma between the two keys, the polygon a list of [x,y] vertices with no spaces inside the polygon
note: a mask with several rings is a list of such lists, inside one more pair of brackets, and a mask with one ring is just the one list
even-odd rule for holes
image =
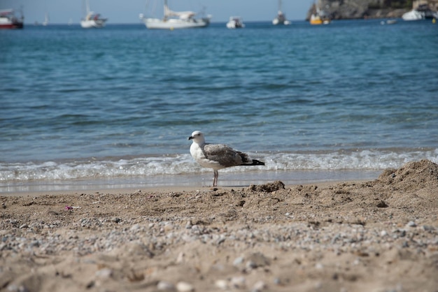
{"label": "largest white sailboat, moored in the distance with mast cut off", "polygon": [[193,11],[172,11],[164,0],[164,17],[150,18],[144,17],[143,13],[139,15],[148,29],[193,29],[199,27],[208,27],[211,15],[207,17],[195,18],[196,13]]}

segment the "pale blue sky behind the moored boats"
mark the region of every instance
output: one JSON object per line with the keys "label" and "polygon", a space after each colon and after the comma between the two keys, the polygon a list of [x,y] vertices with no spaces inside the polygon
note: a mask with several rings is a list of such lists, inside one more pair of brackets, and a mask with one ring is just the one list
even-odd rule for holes
{"label": "pale blue sky behind the moored boats", "polygon": [[[304,20],[312,3],[313,0],[283,0],[283,13],[288,20]],[[213,22],[226,22],[232,15],[243,17],[243,21],[269,21],[278,10],[278,0],[169,0],[169,5],[172,10],[195,12],[204,6],[206,13],[213,15]],[[20,6],[23,6],[25,23],[43,22],[47,12],[50,23],[66,24],[70,18],[73,23],[79,23],[84,4],[83,0],[0,0],[0,9]],[[90,6],[108,17],[108,24],[136,23],[139,13],[145,12],[146,0],[90,0]],[[156,16],[161,16],[162,8],[158,11]]]}

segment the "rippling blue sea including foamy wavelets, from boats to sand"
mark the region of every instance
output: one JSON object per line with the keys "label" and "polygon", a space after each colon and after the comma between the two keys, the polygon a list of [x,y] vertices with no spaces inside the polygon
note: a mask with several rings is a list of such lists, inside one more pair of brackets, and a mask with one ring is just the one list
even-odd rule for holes
{"label": "rippling blue sea including foamy wavelets, from boats to sand", "polygon": [[438,163],[438,24],[0,31],[0,191],[209,185],[192,131],[264,167],[219,185]]}

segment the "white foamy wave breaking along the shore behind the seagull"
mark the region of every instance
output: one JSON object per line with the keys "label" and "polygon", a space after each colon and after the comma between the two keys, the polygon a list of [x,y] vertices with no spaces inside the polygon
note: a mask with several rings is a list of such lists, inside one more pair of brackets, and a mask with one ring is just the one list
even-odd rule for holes
{"label": "white foamy wave breaking along the shore behind the seagull", "polygon": [[[266,166],[251,167],[260,172],[289,170],[383,170],[398,168],[409,161],[429,159],[438,163],[438,149],[425,150],[342,150],[312,153],[250,153]],[[248,171],[248,168],[226,168],[221,173]],[[31,182],[81,179],[129,180],[154,175],[190,175],[208,173],[190,154],[148,157],[113,157],[76,161],[42,161],[0,163],[0,182]]]}

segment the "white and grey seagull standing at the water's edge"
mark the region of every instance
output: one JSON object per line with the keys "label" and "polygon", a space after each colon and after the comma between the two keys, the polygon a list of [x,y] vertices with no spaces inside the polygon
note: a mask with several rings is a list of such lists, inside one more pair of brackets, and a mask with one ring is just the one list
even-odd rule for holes
{"label": "white and grey seagull standing at the water's edge", "polygon": [[218,170],[231,166],[264,166],[264,162],[250,159],[248,154],[236,151],[224,144],[205,143],[204,134],[195,131],[188,140],[193,140],[190,154],[205,168],[213,168],[213,187],[218,185]]}

